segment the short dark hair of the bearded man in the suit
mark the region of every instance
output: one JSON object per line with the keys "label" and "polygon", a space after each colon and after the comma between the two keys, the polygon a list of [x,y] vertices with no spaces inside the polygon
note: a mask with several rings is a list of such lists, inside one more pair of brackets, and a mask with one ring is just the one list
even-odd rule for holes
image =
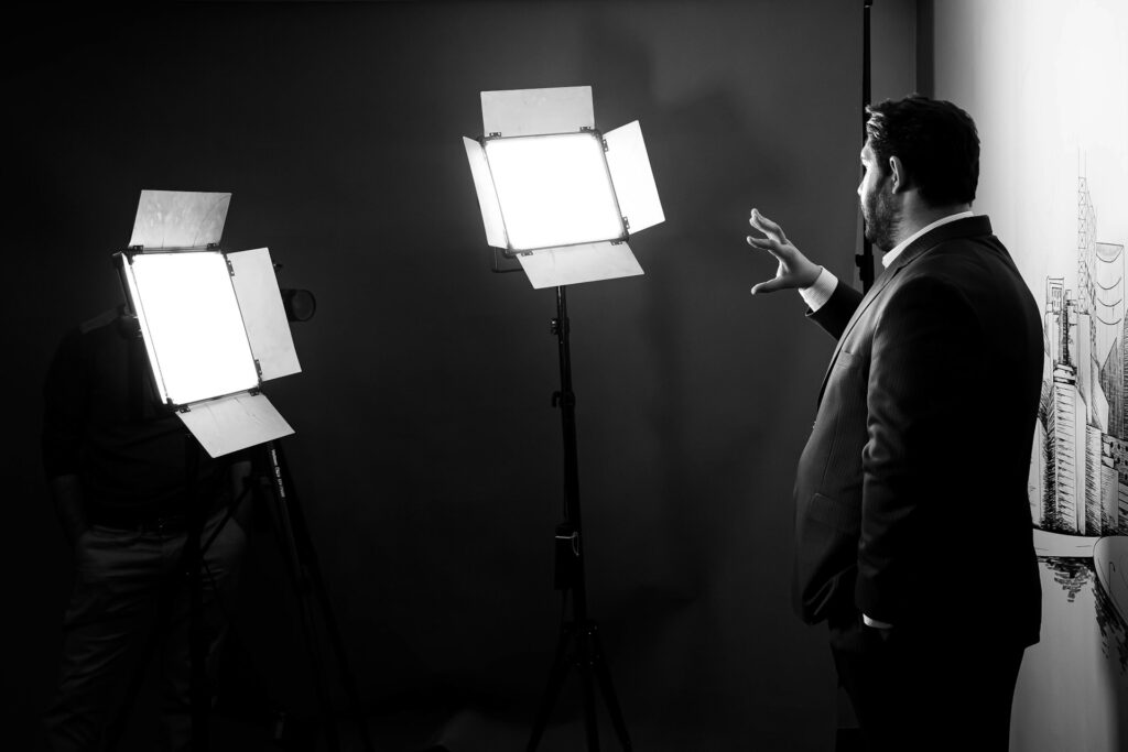
{"label": "short dark hair of the bearded man in the suit", "polygon": [[929,205],[975,201],[979,134],[970,115],[950,101],[917,94],[869,105],[865,112],[865,133],[882,172],[889,158],[898,157]]}

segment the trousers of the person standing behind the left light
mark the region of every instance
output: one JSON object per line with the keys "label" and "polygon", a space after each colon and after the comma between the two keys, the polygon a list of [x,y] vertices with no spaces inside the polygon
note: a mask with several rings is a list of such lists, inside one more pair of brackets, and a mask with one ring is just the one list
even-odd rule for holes
{"label": "trousers of the person standing behind the left light", "polygon": [[[203,631],[209,696],[226,631],[246,534],[226,510],[204,523]],[[94,524],[74,547],[74,586],[63,621],[59,687],[44,718],[52,750],[102,750],[107,727],[124,720],[130,685],[159,662],[161,750],[186,750],[192,737],[190,587],[182,566],[187,531],[183,521]]]}

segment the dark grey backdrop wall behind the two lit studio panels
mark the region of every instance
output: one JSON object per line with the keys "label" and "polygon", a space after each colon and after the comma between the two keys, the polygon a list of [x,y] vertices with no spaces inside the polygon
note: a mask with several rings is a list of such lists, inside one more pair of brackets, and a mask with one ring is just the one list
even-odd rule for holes
{"label": "dark grey backdrop wall behind the two lit studio panels", "polygon": [[[317,294],[305,371],[267,393],[365,704],[525,723],[559,607],[554,298],[490,272],[460,136],[481,90],[591,85],[599,127],[641,121],[667,214],[632,241],[645,276],[570,292],[590,605],[628,725],[640,749],[830,747],[829,653],[788,574],[832,343],[797,297],[749,297],[775,265],[743,237],[757,206],[853,278],[860,9],[186,5],[5,34],[17,734],[70,577],[39,384],[63,331],[118,302],[142,188],[232,192],[224,248],[268,246]],[[270,692],[308,706],[272,546],[259,531],[240,631]]]}

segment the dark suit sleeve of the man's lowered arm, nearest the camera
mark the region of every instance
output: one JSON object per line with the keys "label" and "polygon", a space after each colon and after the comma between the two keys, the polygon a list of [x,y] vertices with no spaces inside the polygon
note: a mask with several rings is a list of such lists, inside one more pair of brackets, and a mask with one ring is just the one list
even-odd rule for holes
{"label": "dark suit sleeve of the man's lowered arm, nearest the camera", "polygon": [[959,472],[982,335],[963,294],[933,277],[900,285],[874,328],[862,453],[857,607],[898,623],[920,596]]}

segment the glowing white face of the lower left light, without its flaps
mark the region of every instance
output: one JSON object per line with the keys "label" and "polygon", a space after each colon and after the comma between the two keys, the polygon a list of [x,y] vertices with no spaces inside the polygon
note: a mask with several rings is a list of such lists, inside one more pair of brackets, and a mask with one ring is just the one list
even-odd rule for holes
{"label": "glowing white face of the lower left light, without its flaps", "polygon": [[222,254],[139,254],[126,272],[162,399],[187,405],[258,386]]}

